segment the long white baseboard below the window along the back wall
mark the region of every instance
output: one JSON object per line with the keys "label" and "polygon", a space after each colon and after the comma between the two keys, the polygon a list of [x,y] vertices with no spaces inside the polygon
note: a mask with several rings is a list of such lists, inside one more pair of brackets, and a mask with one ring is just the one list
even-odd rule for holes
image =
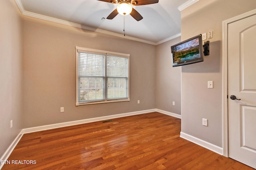
{"label": "long white baseboard below the window along the back wall", "polygon": [[56,123],[56,124],[52,124],[52,125],[31,127],[31,128],[22,129],[22,133],[24,134],[24,133],[32,133],[32,132],[37,132],[37,131],[44,131],[44,130],[55,129],[55,128],[59,128],[59,127],[66,127],[66,126],[79,125],[79,124],[84,124],[84,123],[91,123],[91,122],[95,122],[95,121],[115,119],[115,118],[119,118],[119,117],[131,116],[131,115],[139,115],[139,114],[150,113],[150,112],[154,112],[154,111],[156,111],[156,109],[134,111],[134,112],[130,112],[130,113],[122,113],[122,114],[117,114],[117,115],[95,117],[95,118],[91,118],[91,119],[82,119],[82,120],[69,121],[69,122],[64,122],[64,123]]}

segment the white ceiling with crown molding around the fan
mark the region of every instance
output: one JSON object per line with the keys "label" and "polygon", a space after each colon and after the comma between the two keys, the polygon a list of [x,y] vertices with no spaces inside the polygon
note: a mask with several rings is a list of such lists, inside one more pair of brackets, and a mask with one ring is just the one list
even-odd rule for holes
{"label": "white ceiling with crown molding around the fan", "polygon": [[[125,16],[125,38],[160,44],[180,35],[180,10],[198,0],[159,0],[157,4],[133,6],[143,17],[136,21]],[[117,4],[99,0],[16,0],[23,15],[33,16],[91,31],[124,37],[124,16],[102,19]]]}

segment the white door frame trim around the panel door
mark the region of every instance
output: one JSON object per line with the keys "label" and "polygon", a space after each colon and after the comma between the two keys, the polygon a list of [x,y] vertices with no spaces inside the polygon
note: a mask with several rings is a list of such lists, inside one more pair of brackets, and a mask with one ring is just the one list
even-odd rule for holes
{"label": "white door frame trim around the panel door", "polygon": [[256,9],[222,22],[222,154],[228,156],[228,24],[256,15]]}

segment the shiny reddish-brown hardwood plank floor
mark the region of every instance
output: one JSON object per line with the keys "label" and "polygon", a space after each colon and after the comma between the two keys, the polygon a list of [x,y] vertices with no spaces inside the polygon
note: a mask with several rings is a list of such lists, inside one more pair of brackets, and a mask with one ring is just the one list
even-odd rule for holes
{"label": "shiny reddish-brown hardwood plank floor", "polygon": [[154,112],[24,134],[2,170],[253,169],[180,138],[180,126]]}

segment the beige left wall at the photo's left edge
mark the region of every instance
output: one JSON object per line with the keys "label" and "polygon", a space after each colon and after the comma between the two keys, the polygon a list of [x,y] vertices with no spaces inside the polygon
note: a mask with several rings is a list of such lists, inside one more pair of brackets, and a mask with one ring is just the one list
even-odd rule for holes
{"label": "beige left wall at the photo's left edge", "polygon": [[[14,0],[0,0],[0,156],[22,129],[22,20]],[[10,121],[13,127],[10,129]]]}

